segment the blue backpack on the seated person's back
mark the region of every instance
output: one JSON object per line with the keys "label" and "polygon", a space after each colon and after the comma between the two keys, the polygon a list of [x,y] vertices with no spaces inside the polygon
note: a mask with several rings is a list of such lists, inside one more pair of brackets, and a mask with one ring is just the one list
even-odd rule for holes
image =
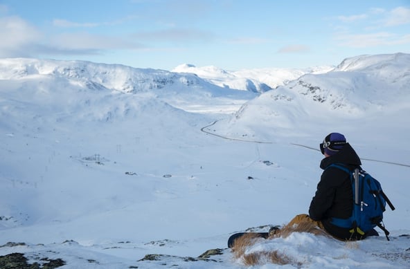
{"label": "blue backpack on the seated person's back", "polygon": [[[386,203],[391,210],[395,210],[393,204],[384,194],[382,186],[373,176],[367,174],[361,168],[351,171],[344,165],[332,164],[329,167],[337,167],[350,175],[353,189],[353,213],[348,219],[332,218],[332,224],[341,228],[351,228],[352,236],[365,237],[376,226],[384,231],[386,239],[389,239],[389,231],[384,228],[383,212]],[[327,169],[326,168],[326,169]]]}

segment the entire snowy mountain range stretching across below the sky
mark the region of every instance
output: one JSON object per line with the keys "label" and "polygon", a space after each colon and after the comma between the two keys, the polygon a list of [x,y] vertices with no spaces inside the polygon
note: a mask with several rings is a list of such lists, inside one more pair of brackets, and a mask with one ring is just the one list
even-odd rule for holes
{"label": "entire snowy mountain range stretching across below the sky", "polygon": [[[187,71],[188,68],[190,71],[198,71],[199,74],[84,61],[0,59],[0,79],[2,83],[8,82],[15,86],[20,84],[16,86],[17,89],[25,87],[34,98],[44,93],[48,93],[44,95],[47,98],[53,98],[53,91],[60,91],[64,96],[64,89],[72,93],[89,89],[103,91],[106,95],[110,95],[112,91],[159,98],[186,111],[200,111],[212,102],[218,103],[220,98],[232,98],[238,101],[235,101],[235,106],[240,105],[240,102],[244,103],[242,109],[239,109],[239,106],[236,109],[235,117],[231,120],[233,122],[244,117],[246,113],[251,114],[249,118],[258,118],[258,111],[253,111],[252,107],[261,106],[264,108],[259,111],[265,111],[267,115],[289,115],[293,108],[291,115],[294,115],[295,111],[327,111],[325,113],[337,112],[349,116],[362,115],[364,111],[382,111],[387,106],[402,104],[405,107],[409,97],[409,66],[410,55],[395,53],[350,57],[344,59],[336,68],[310,68],[306,71],[309,73],[304,74],[300,70],[288,73],[289,69],[260,69],[262,75],[259,76],[265,75],[267,70],[273,72],[272,74],[286,74],[286,78],[282,77],[280,82],[283,85],[276,86],[275,89],[269,87],[269,91],[262,92],[260,88],[256,89],[256,84],[248,78],[258,70],[229,72],[215,66],[197,68],[192,64],[181,65],[177,71]],[[297,78],[289,81],[289,76]],[[255,81],[259,81],[258,75],[255,77]],[[248,81],[251,91],[221,86],[226,79],[231,82],[240,80],[241,83]],[[54,90],[53,83],[58,85]],[[70,96],[67,95],[66,100],[76,100]],[[63,105],[61,100],[58,102]],[[71,102],[78,104],[82,101]],[[195,106],[199,109],[195,110]],[[233,107],[226,111],[233,111]],[[118,111],[118,108],[114,110]],[[109,113],[112,114],[113,111],[107,111],[107,114]]]}

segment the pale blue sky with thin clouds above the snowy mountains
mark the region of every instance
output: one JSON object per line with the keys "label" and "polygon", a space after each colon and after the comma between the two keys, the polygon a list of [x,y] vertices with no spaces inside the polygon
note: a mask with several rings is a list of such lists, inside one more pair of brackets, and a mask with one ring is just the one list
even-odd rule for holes
{"label": "pale blue sky with thin clouds above the snowy mountains", "polygon": [[172,70],[410,53],[410,0],[0,0],[0,57]]}

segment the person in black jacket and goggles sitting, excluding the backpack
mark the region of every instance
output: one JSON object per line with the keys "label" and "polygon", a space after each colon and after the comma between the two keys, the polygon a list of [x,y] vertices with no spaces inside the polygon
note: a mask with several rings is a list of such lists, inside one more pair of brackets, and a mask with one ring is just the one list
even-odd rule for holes
{"label": "person in black jacket and goggles sitting, excluding the backpack", "polygon": [[[321,153],[325,156],[321,160],[320,167],[323,169],[321,179],[317,185],[317,191],[312,198],[308,214],[300,214],[294,217],[283,228],[271,229],[270,236],[279,235],[281,230],[292,230],[294,225],[310,229],[312,227],[324,231],[339,240],[360,240],[366,236],[378,235],[375,230],[368,234],[351,233],[350,228],[341,228],[332,224],[332,217],[348,219],[353,212],[353,191],[350,176],[345,171],[330,167],[334,163],[343,164],[350,170],[362,165],[353,147],[346,142],[341,133],[330,133],[320,144]],[[303,228],[299,228],[303,232]],[[282,231],[283,232],[283,231]],[[320,233],[320,232],[317,232]]]}

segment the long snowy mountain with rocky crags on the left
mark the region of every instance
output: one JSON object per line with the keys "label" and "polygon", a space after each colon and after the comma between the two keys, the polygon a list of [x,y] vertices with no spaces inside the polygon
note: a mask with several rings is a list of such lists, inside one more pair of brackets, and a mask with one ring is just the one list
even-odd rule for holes
{"label": "long snowy mountain with rocky crags on the left", "polygon": [[[40,98],[46,93],[48,100],[57,102],[58,106],[75,106],[70,108],[73,111],[87,110],[87,106],[82,106],[83,102],[96,102],[83,95],[100,95],[103,98],[116,96],[115,98],[125,100],[145,96],[186,111],[206,110],[207,104],[212,100],[215,107],[219,104],[214,113],[233,113],[243,100],[256,96],[256,93],[215,86],[193,74],[83,61],[0,59],[0,80],[1,83],[12,84],[13,93],[10,94],[20,93],[21,91],[15,90],[21,88]],[[95,93],[96,91],[99,93]],[[119,95],[121,93],[129,95]],[[132,98],[125,97],[131,96],[130,94]],[[59,98],[65,95],[66,98]],[[233,105],[226,105],[226,98]],[[113,104],[116,106],[116,102]],[[104,106],[102,109],[106,111],[100,111],[99,114],[130,112],[127,102],[121,106],[123,107]]]}

